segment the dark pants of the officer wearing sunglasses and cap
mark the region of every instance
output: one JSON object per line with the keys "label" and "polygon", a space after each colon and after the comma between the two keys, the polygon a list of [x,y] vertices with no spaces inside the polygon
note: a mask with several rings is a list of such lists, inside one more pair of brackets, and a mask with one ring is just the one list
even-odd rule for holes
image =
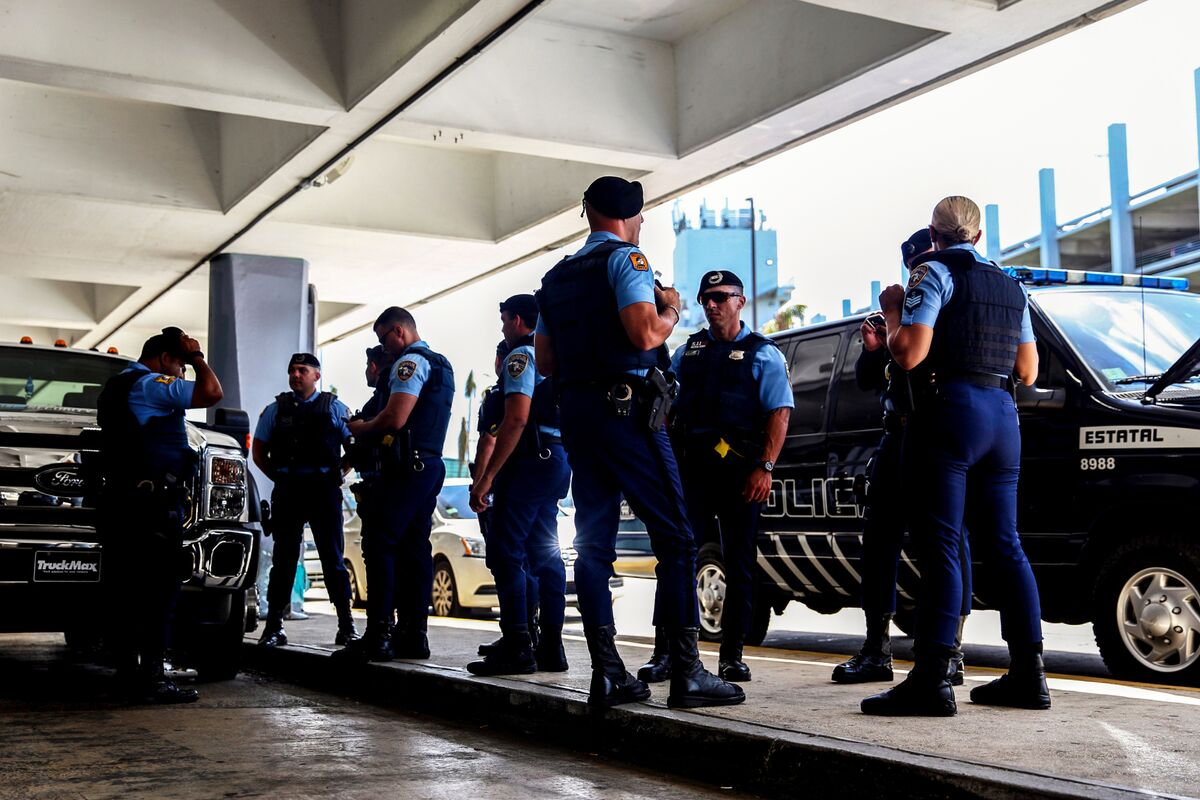
{"label": "dark pants of the officer wearing sunglasses and cap", "polygon": [[754,464],[733,456],[688,452],[680,464],[688,518],[700,545],[719,542],[725,566],[721,636],[740,644],[754,612],[756,542],[760,503],[742,497]]}

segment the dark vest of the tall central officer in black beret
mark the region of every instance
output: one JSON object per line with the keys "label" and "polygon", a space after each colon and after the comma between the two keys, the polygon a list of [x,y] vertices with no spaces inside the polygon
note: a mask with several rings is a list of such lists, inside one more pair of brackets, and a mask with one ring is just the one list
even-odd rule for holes
{"label": "dark vest of the tall central officer in black beret", "polygon": [[629,341],[608,283],[608,257],[632,245],[608,240],[583,255],[569,255],[541,279],[538,309],[554,345],[559,384],[587,384],[665,368],[666,345],[640,350]]}

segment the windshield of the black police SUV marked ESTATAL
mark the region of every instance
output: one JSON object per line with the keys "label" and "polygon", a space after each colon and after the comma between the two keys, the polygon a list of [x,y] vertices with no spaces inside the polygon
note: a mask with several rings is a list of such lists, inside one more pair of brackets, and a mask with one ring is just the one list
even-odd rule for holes
{"label": "windshield of the black police SUV marked ESTATAL", "polygon": [[1036,296],[1038,307],[1110,390],[1153,383],[1200,338],[1200,295],[1103,289],[1043,290]]}

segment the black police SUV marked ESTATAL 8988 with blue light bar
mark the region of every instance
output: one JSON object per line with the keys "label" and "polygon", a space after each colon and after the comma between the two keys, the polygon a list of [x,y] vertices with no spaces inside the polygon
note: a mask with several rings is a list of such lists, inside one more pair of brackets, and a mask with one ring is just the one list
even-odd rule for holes
{"label": "black police SUV marked ESTATAL 8988 with blue light bar", "polygon": [[[1118,676],[1200,684],[1200,295],[1187,281],[1009,267],[1030,290],[1040,367],[1021,387],[1019,530],[1042,614],[1092,622]],[[796,410],[763,506],[751,644],[770,612],[859,604],[854,477],[881,435],[854,381],[862,315],[786,331]],[[720,634],[720,548],[701,548],[707,638]],[[905,553],[896,622],[911,632],[919,564]],[[976,608],[995,607],[983,565]]]}

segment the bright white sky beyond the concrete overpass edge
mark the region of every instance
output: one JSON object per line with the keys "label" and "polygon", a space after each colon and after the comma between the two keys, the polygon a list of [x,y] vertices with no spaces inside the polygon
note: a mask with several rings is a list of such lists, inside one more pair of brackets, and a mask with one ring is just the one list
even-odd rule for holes
{"label": "bright white sky beyond the concrete overpass edge", "polygon": [[[683,198],[721,207],[754,197],[778,230],[780,283],[809,315],[869,302],[871,281],[900,279],[899,245],[929,222],[947,194],[1000,206],[1001,241],[1038,233],[1038,170],[1055,169],[1058,221],[1109,204],[1108,126],[1124,122],[1134,193],[1196,169],[1194,72],[1200,68],[1200,0],[1147,0],[995,66],[776,155]],[[671,278],[674,233],[666,203],[646,211],[641,247]],[[986,234],[985,234],[986,236]],[[984,240],[985,241],[985,240]],[[571,252],[578,247],[565,248]],[[533,259],[414,309],[430,345],[450,359],[460,386],[456,441],[474,369],[494,381],[499,300],[533,291],[559,258]],[[749,260],[749,255],[746,257]],[[350,408],[368,396],[364,349],[371,331],[322,351],[325,387]],[[474,413],[474,408],[472,413]],[[474,420],[472,420],[474,425]],[[457,456],[450,446],[448,457]]]}

